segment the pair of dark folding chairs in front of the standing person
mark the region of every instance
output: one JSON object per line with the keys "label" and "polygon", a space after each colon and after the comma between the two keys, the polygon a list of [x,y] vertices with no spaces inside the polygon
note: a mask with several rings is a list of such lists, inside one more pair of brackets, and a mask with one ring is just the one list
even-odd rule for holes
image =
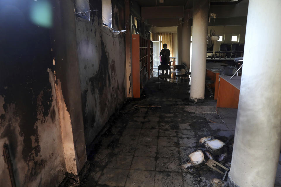
{"label": "pair of dark folding chairs in front of the standing person", "polygon": [[[174,82],[176,80],[177,82],[177,87],[179,88],[179,81],[177,78],[181,79],[183,78],[184,80],[185,79],[189,79],[189,76],[190,76],[190,72],[189,72],[189,69],[187,68],[187,66],[185,64],[181,64],[181,65],[174,65]],[[160,74],[160,70],[162,72],[164,71],[167,71],[167,74]],[[184,73],[178,73],[176,74],[176,72],[178,71],[181,71],[181,70],[184,70],[185,72]],[[171,81],[171,66],[170,65],[159,65],[158,66],[158,87],[160,88],[160,82],[159,82],[159,78],[160,79],[169,79],[169,84],[171,84],[171,88],[172,88],[172,81]],[[184,83],[184,81],[183,81]],[[167,83],[161,83],[161,84],[167,84]],[[189,82],[188,82],[188,86],[189,86]]]}

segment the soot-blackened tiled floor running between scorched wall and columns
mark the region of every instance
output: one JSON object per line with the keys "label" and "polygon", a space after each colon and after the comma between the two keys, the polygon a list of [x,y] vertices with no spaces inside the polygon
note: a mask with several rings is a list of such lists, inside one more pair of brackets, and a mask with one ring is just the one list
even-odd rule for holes
{"label": "soot-blackened tiled floor running between scorched wall and columns", "polygon": [[201,187],[222,178],[211,169],[189,174],[180,165],[199,148],[200,138],[234,137],[237,109],[219,109],[218,115],[213,99],[190,103],[186,90],[184,85],[158,90],[150,81],[142,99],[126,104],[93,148],[81,186]]}

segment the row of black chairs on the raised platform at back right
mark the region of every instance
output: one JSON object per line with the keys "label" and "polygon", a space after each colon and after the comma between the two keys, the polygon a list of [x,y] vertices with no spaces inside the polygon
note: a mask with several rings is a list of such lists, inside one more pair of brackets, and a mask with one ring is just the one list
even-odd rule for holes
{"label": "row of black chairs on the raised platform at back right", "polygon": [[211,58],[236,58],[243,57],[244,44],[220,44],[220,50],[213,53],[214,44],[207,48],[207,54],[211,54]]}

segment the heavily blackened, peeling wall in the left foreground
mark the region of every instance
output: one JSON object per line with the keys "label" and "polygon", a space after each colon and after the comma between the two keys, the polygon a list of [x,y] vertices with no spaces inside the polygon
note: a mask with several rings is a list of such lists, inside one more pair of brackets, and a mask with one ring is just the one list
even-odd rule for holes
{"label": "heavily blackened, peeling wall in the left foreground", "polygon": [[66,172],[49,29],[30,21],[36,1],[0,3],[0,186],[58,186]]}

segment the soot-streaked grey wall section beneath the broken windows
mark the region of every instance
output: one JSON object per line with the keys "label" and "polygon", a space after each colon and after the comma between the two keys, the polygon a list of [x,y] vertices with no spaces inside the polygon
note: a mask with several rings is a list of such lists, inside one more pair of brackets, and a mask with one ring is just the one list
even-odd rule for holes
{"label": "soot-streaked grey wall section beneath the broken windows", "polygon": [[[91,10],[102,10],[101,5],[101,0],[90,1]],[[118,9],[120,3],[112,0],[113,28],[124,25],[119,24],[124,20]],[[125,34],[112,34],[102,26],[101,11],[93,12],[91,21],[76,17],[76,34],[85,141],[89,146],[125,100]]]}

